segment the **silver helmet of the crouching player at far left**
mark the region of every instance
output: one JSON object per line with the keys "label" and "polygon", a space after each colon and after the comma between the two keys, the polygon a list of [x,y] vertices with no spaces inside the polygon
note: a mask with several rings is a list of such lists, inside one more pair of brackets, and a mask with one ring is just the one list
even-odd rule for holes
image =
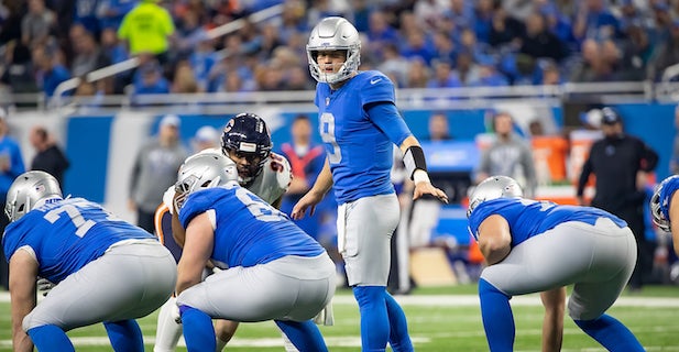
{"label": "silver helmet of the crouching player at far left", "polygon": [[64,198],[56,178],[41,170],[23,173],[14,179],[7,193],[4,213],[10,222],[17,221],[41,200],[48,198]]}

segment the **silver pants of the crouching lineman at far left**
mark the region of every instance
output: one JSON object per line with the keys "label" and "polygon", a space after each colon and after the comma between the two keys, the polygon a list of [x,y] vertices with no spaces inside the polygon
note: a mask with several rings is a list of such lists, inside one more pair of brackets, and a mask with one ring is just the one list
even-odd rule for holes
{"label": "silver pants of the crouching lineman at far left", "polygon": [[[56,285],[24,318],[23,328],[29,331],[53,324],[68,331],[102,321],[143,317],[167,299],[175,280],[174,260],[156,241],[114,246]],[[37,336],[41,331],[32,333]],[[45,331],[52,336],[55,332]],[[53,344],[63,341],[51,340],[55,341],[48,342]]]}

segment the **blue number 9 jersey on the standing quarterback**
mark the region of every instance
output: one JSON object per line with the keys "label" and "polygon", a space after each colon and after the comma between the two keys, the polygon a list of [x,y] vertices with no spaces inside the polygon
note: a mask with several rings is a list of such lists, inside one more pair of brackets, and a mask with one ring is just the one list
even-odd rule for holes
{"label": "blue number 9 jersey on the standing quarterback", "polygon": [[322,138],[338,204],[394,193],[390,179],[392,144],[410,135],[398,113],[371,116],[366,105],[395,105],[394,85],[375,70],[361,72],[337,90],[316,87]]}

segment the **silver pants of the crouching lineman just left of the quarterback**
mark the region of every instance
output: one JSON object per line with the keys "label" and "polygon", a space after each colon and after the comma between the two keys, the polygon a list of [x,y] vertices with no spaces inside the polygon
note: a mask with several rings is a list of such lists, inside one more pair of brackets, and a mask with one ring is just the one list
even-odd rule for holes
{"label": "silver pants of the crouching lineman just left of the quarterback", "polygon": [[[289,267],[297,267],[299,272],[294,273]],[[322,286],[322,297],[315,295],[318,297],[308,301],[305,295],[321,290],[315,286]],[[329,301],[333,290],[335,265],[327,255],[314,258],[286,256],[262,265],[233,267],[213,274],[183,292],[177,297],[177,304],[180,309],[185,310],[185,306],[194,308],[210,318],[265,321],[289,316],[291,319],[302,321],[317,315]],[[328,293],[330,295],[326,300],[325,295]],[[204,321],[196,312],[191,317],[198,323]],[[194,337],[186,331],[186,323],[184,329],[184,338],[189,345]],[[198,339],[201,338],[205,336],[198,336]]]}

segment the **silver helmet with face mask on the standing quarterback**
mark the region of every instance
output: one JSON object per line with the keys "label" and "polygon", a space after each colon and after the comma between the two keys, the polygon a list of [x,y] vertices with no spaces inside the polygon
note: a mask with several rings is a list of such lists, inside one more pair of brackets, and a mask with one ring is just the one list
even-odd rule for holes
{"label": "silver helmet with face mask on the standing quarterback", "polygon": [[[316,58],[320,51],[347,51],[347,59],[342,67],[333,74],[324,72]],[[359,31],[343,18],[330,16],[322,19],[311,30],[307,44],[309,70],[314,79],[320,82],[335,84],[342,81],[359,70],[361,64],[361,40]]]}

